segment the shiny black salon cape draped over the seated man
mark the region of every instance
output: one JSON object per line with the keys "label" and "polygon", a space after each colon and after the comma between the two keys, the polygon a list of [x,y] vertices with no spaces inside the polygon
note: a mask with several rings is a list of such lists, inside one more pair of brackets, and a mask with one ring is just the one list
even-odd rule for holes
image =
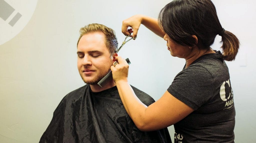
{"label": "shiny black salon cape draped over the seated man", "polygon": [[[154,103],[146,93],[132,87],[145,104]],[[127,114],[115,87],[93,93],[89,84],[67,94],[39,143],[52,142],[172,142],[167,128],[142,132]]]}

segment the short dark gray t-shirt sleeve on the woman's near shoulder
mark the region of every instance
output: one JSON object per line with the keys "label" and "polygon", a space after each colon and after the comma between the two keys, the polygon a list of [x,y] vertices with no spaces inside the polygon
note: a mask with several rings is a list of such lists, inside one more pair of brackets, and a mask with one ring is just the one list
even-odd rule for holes
{"label": "short dark gray t-shirt sleeve on the woman's near shoulder", "polygon": [[180,72],[167,91],[189,107],[197,110],[213,96],[212,75],[202,66],[190,66]]}

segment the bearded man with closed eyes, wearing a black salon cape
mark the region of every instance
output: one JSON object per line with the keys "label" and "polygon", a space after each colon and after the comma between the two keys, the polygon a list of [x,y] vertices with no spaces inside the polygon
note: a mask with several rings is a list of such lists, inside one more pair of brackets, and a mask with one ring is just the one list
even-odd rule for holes
{"label": "bearded man with closed eyes, wearing a black salon cape", "polygon": [[[110,71],[118,42],[115,32],[102,24],[80,29],[77,66],[87,83],[67,94],[56,110],[40,142],[171,142],[167,128],[142,132],[122,104],[115,82],[101,88],[97,83]],[[147,106],[148,94],[132,87]]]}

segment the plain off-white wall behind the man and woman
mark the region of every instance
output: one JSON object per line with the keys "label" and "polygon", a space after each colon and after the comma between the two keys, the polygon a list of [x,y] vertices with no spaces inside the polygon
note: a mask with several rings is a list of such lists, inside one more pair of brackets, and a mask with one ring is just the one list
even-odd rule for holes
{"label": "plain off-white wall behind the man and woman", "polygon": [[[116,31],[121,43],[125,37],[122,20],[135,14],[157,18],[169,2],[38,0],[24,29],[0,45],[0,142],[38,142],[60,100],[84,85],[76,66],[80,27],[104,24]],[[241,42],[236,60],[227,62],[236,107],[235,141],[255,142],[255,1],[213,2],[222,26]],[[217,36],[214,49],[219,49],[219,41]],[[166,42],[143,25],[138,38],[129,41],[119,55],[131,60],[130,84],[156,100],[185,64],[183,59],[170,56]],[[169,132],[173,139],[172,126]]]}

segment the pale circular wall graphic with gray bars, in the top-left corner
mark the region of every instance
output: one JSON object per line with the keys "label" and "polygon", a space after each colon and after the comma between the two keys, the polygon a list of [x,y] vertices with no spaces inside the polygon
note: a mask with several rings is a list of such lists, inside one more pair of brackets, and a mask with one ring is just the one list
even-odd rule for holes
{"label": "pale circular wall graphic with gray bars, in the top-left corner", "polygon": [[9,41],[27,25],[37,0],[0,0],[0,45]]}

